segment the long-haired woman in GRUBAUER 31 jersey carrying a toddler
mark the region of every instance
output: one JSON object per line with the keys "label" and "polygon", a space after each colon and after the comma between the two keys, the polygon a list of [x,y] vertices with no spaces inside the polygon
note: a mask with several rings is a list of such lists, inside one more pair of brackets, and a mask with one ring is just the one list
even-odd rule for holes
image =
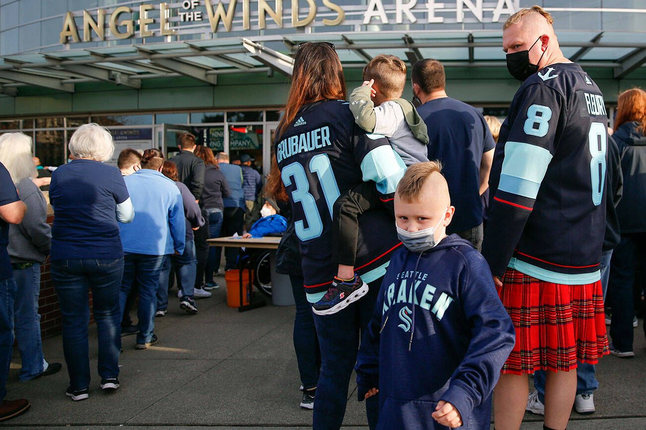
{"label": "long-haired woman in GRUBAUER 31 jersey carrying a toddler", "polygon": [[[336,272],[331,255],[335,200],[361,181],[375,181],[381,193],[394,193],[404,173],[403,162],[385,137],[366,135],[355,125],[345,98],[343,70],[334,45],[300,44],[273,149],[293,212],[310,303],[333,287],[329,279]],[[270,180],[276,176],[271,175]],[[342,424],[359,329],[365,329],[370,320],[380,279],[398,243],[394,220],[385,211],[362,215],[356,267],[368,282],[368,293],[334,315],[314,315],[321,352],[314,429],[338,429]],[[369,399],[369,411],[376,410],[375,397]],[[375,419],[368,414],[371,425]]]}

